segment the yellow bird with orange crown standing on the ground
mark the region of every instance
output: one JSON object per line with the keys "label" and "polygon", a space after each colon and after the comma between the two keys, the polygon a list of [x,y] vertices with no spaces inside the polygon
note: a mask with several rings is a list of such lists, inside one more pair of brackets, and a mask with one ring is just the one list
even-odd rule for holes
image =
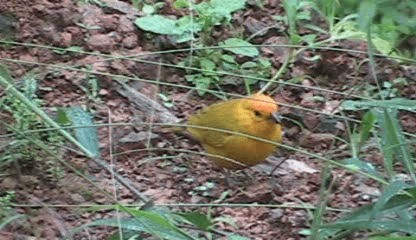
{"label": "yellow bird with orange crown standing on the ground", "polygon": [[[218,128],[251,135],[273,142],[281,142],[282,126],[276,102],[264,95],[254,94],[243,99],[233,99],[213,104],[189,117],[188,124]],[[187,127],[208,154],[220,157],[210,159],[220,167],[238,170],[254,166],[266,159],[276,145],[247,136],[209,129]]]}

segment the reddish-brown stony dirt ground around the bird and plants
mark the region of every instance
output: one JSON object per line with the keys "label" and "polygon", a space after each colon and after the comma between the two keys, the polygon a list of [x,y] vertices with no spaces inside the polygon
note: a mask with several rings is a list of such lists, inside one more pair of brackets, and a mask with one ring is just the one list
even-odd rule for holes
{"label": "reddish-brown stony dirt ground around the bird and plants", "polygon": [[[85,94],[83,86],[86,85],[86,79],[91,76],[76,69],[88,68],[105,74],[160,79],[160,82],[164,83],[191,86],[184,80],[184,71],[178,68],[107,59],[108,56],[140,56],[138,58],[142,60],[177,64],[189,54],[189,52],[167,53],[162,57],[147,55],[155,51],[183,46],[166,44],[162,37],[149,35],[138,29],[133,21],[142,13],[131,7],[124,7],[123,4],[130,4],[130,1],[108,2],[112,5],[103,8],[93,4],[77,4],[72,0],[3,1],[0,4],[0,24],[3,29],[1,39],[12,39],[25,44],[3,42],[0,46],[0,59],[3,60],[0,62],[10,68],[15,79],[29,72],[38,74],[40,86],[38,96],[44,101],[46,109],[54,111],[57,107],[88,105],[94,111],[96,123],[137,123],[132,126],[100,127],[102,157],[108,162],[112,160],[118,173],[129,179],[138,191],[153,199],[156,206],[168,206],[181,211],[207,211],[207,207],[195,205],[222,204],[210,209],[213,218],[227,217],[234,222],[234,226],[224,222],[218,223],[218,229],[222,231],[240,234],[249,239],[304,238],[301,231],[310,227],[312,213],[304,206],[308,204],[315,206],[318,202],[320,173],[324,165],[322,161],[300,152],[281,149],[264,164],[246,170],[251,176],[248,184],[229,187],[224,182],[224,175],[206,158],[174,151],[174,149],[202,151],[198,144],[157,126],[149,129],[148,125],[141,125],[141,122],[161,122],[162,116],[149,115],[143,109],[139,109],[130,98],[122,94],[126,89],[123,89],[123,85],[113,77],[94,75],[100,84],[98,96],[91,99]],[[162,14],[178,14],[172,10],[171,4],[171,1],[166,1]],[[249,4],[243,12],[234,14],[233,21],[242,24],[247,35],[251,34],[248,26],[259,22],[266,26],[274,24],[271,16],[283,14],[280,1],[265,1],[264,5],[265,8],[261,9]],[[231,35],[231,30],[227,27],[215,31],[213,34],[215,43]],[[281,32],[269,30],[266,34],[256,37],[253,42],[279,43],[282,37],[284,36]],[[84,51],[100,54],[62,53],[45,46],[59,48],[77,46],[82,47]],[[365,50],[365,45],[359,42],[334,43],[333,47]],[[261,50],[264,56],[270,58],[276,71],[284,60],[282,57],[284,50],[279,48]],[[321,50],[313,53],[306,51],[303,57],[310,57],[313,54],[321,56],[317,64],[298,59],[291,64],[290,71],[283,76],[283,79],[290,79],[309,75],[309,79],[300,82],[305,88],[283,86],[274,95],[275,100],[282,104],[282,114],[300,121],[305,126],[301,129],[293,123],[285,123],[284,143],[322,156],[332,156],[331,158],[335,160],[346,159],[351,156],[348,146],[336,140],[343,138],[349,141],[345,121],[318,114],[319,112],[335,113],[345,96],[307,87],[316,86],[343,92],[352,86],[361,85],[364,88],[368,84],[374,84],[371,83],[366,65],[356,72],[356,63],[366,56]],[[8,61],[10,59],[21,62]],[[51,65],[73,68],[51,70]],[[385,59],[378,60],[378,68],[380,81],[412,76],[397,64]],[[411,80],[415,82],[414,74]],[[163,100],[158,94],[169,96],[173,105],[166,107],[166,110],[178,119],[185,119],[203,106],[218,101],[209,94],[200,97],[188,89],[164,84],[130,81],[128,86],[161,104]],[[243,87],[224,86],[223,90],[245,94]],[[399,88],[398,94],[416,99],[416,84]],[[318,98],[322,100],[314,100]],[[290,107],[293,105],[313,109],[318,113]],[[348,117],[359,119],[361,116],[350,114]],[[406,131],[416,133],[414,115],[402,114],[401,120]],[[160,150],[114,155],[147,147]],[[91,212],[78,205],[114,204],[115,199],[125,204],[138,203],[130,191],[119,184],[114,184],[106,171],[85,157],[70,151],[65,152],[64,156],[65,161],[80,169],[96,186],[92,186],[69,169],[65,169],[66,174],[58,181],[43,178],[36,167],[20,174],[11,169],[10,175],[0,177],[0,193],[13,190],[16,192],[17,204],[38,207],[16,208],[17,213],[25,214],[27,218],[2,229],[1,239],[61,238],[84,223],[114,217],[113,211]],[[161,156],[173,157],[157,160],[156,157]],[[364,160],[376,166],[382,164],[381,155],[375,147],[368,147],[364,156],[366,156]],[[144,162],[146,159],[156,160]],[[285,162],[270,176],[270,171],[282,160]],[[331,174],[333,190],[329,196],[330,207],[351,210],[371,202],[379,194],[378,186],[362,176],[339,168],[333,168]],[[232,177],[239,178],[239,176]],[[116,191],[116,198],[109,199],[96,188],[109,192]],[[226,192],[226,197],[218,200]],[[258,203],[260,206],[233,206],[233,204],[253,203]],[[296,207],[293,205],[281,207],[290,204]],[[339,217],[340,213],[336,211],[326,214],[327,221]],[[114,232],[113,228],[92,227],[88,231],[77,234],[75,239],[106,239]]]}

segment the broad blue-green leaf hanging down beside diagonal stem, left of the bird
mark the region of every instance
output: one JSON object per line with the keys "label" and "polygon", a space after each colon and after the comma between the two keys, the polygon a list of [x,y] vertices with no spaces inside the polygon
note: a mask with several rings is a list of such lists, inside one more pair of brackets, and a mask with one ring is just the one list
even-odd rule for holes
{"label": "broad blue-green leaf hanging down beside diagonal stem, left of the bird", "polygon": [[74,126],[88,126],[75,128],[75,136],[82,146],[98,157],[100,155],[98,134],[91,115],[79,106],[67,109],[66,114]]}

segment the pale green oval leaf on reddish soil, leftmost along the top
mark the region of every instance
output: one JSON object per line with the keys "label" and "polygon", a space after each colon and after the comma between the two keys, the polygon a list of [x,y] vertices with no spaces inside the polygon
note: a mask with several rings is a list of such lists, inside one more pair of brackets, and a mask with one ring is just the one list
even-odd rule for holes
{"label": "pale green oval leaf on reddish soil, leftmost along the top", "polygon": [[137,18],[134,23],[141,29],[158,34],[181,35],[183,29],[176,25],[177,21],[161,15],[151,15]]}

